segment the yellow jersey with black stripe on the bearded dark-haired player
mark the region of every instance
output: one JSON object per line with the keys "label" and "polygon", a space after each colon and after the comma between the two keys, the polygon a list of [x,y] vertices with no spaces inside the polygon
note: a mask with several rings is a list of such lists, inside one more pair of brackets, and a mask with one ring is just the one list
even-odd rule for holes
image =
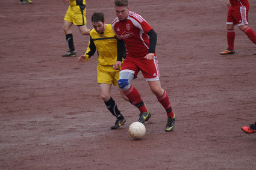
{"label": "yellow jersey with black stripe on the bearded dark-haired player", "polygon": [[116,34],[110,24],[107,24],[103,34],[93,28],[89,34],[89,45],[85,55],[92,56],[98,52],[98,64],[113,65],[117,61],[117,40]]}

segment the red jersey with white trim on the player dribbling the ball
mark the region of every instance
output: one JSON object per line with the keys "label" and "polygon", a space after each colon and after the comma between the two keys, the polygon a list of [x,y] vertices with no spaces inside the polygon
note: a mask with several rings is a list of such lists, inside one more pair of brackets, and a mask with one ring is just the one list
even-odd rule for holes
{"label": "red jersey with white trim on the player dribbling the ball", "polygon": [[142,58],[148,54],[149,37],[146,33],[153,29],[139,14],[129,11],[125,20],[118,17],[112,22],[116,37],[125,42],[126,56]]}

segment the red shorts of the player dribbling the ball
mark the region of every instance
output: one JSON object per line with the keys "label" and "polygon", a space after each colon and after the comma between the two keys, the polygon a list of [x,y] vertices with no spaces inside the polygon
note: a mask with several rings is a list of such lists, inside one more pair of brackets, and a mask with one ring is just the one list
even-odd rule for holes
{"label": "red shorts of the player dribbling the ball", "polygon": [[148,60],[145,58],[132,58],[126,57],[123,61],[122,71],[128,71],[133,73],[137,77],[139,71],[142,71],[143,76],[147,81],[155,81],[160,79],[160,73],[158,69],[157,56],[154,59]]}

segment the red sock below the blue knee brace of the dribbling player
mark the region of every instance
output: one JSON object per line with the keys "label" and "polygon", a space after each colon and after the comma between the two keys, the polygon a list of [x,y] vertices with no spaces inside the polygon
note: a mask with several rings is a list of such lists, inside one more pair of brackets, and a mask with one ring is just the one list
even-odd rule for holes
{"label": "red sock below the blue knee brace of the dribbling player", "polygon": [[130,100],[131,104],[136,106],[140,112],[148,112],[148,109],[142,102],[139,92],[133,87],[133,85],[131,85],[127,91],[124,91],[123,94],[125,94],[125,96]]}

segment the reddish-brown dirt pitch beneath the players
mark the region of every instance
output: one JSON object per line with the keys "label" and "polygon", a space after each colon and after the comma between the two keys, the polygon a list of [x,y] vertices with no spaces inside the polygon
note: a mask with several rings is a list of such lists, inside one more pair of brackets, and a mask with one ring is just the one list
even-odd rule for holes
{"label": "reddish-brown dirt pitch beneath the players", "polygon": [[[134,141],[129,124],[139,111],[112,96],[127,124],[110,130],[114,117],[99,96],[97,58],[77,63],[62,58],[67,44],[67,4],[0,1],[0,169],[255,169],[256,136],[241,126],[256,121],[256,50],[236,27],[236,54],[226,45],[225,0],[130,0],[158,34],[162,87],[169,94],[176,126],[164,132],[166,114],[139,74],[133,82],[151,120]],[[249,26],[256,31],[256,2]],[[87,1],[87,25],[95,11],[115,17],[113,1]],[[88,37],[73,26],[78,54]]]}

